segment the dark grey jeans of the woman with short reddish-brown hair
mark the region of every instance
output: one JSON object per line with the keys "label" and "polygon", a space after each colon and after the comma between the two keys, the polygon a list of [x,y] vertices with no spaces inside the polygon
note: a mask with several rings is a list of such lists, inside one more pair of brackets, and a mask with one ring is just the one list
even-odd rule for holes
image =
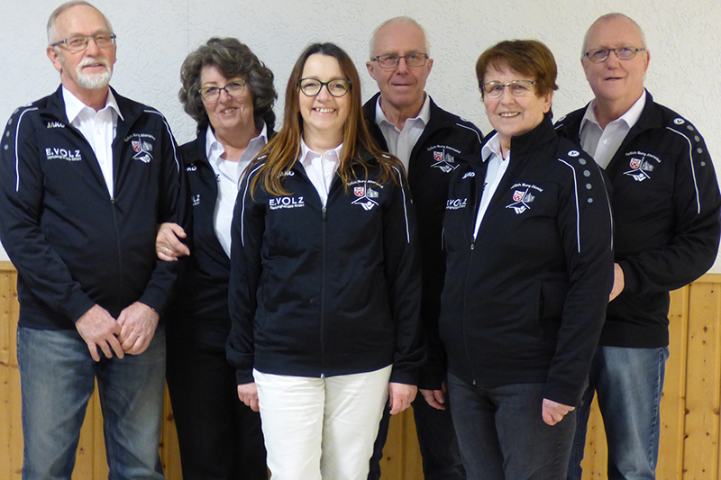
{"label": "dark grey jeans of the woman with short reddish-brown hair", "polygon": [[453,421],[470,480],[564,480],[576,412],[547,425],[545,384],[470,385],[448,375]]}

